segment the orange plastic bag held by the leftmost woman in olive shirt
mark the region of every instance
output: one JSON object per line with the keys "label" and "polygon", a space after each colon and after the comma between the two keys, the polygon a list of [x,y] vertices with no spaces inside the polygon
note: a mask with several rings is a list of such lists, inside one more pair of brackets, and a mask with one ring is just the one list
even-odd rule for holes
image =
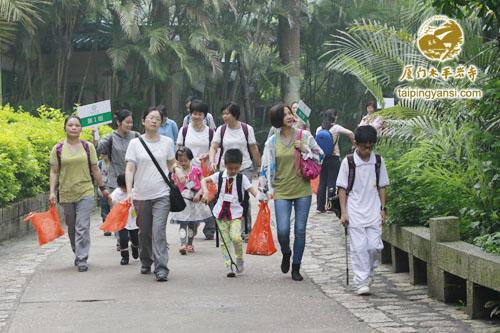
{"label": "orange plastic bag held by the leftmost woman in olive shirt", "polygon": [[38,234],[38,244],[43,245],[52,242],[54,239],[64,235],[64,230],[61,227],[61,219],[57,214],[57,209],[54,204],[46,212],[29,213],[24,221],[31,220],[36,233]]}

